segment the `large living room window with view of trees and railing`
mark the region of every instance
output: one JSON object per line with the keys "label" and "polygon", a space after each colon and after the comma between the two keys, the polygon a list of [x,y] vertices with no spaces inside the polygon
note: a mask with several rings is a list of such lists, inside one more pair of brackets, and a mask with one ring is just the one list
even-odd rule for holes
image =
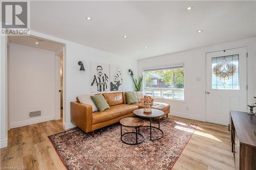
{"label": "large living room window with view of trees and railing", "polygon": [[143,72],[145,95],[156,98],[184,100],[184,65],[145,69]]}

